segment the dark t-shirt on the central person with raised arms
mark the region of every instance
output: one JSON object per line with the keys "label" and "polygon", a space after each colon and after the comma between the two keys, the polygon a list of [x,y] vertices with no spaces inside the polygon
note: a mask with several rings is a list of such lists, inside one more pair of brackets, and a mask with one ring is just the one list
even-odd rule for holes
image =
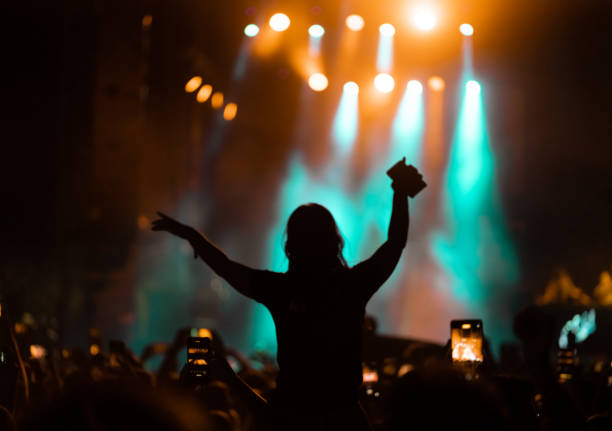
{"label": "dark t-shirt on the central person with raised arms", "polygon": [[282,402],[357,400],[365,307],[393,272],[402,248],[383,245],[352,268],[253,270],[252,297],[268,308],[276,326]]}

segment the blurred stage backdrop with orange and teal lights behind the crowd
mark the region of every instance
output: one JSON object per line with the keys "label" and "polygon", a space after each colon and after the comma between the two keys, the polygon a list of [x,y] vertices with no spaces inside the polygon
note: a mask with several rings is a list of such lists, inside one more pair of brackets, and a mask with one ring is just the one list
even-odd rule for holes
{"label": "blurred stage backdrop with orange and teal lights behind the crowd", "polygon": [[352,265],[386,238],[403,156],[428,187],[368,305],[379,332],[445,343],[481,318],[497,347],[527,304],[612,303],[607,1],[3,9],[0,300],[41,337],[140,351],[211,327],[274,353],[267,311],[151,232],[155,212],[284,271],[287,218],[318,202]]}

